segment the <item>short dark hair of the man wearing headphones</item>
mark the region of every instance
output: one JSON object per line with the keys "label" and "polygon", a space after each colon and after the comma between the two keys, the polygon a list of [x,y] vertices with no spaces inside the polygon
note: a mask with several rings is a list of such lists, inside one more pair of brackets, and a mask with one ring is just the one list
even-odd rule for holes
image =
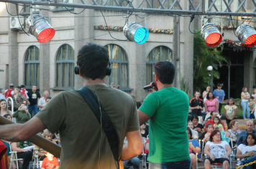
{"label": "short dark hair of the man wearing headphones", "polygon": [[88,43],[79,50],[76,63],[83,78],[104,79],[109,64],[109,52],[99,44]]}

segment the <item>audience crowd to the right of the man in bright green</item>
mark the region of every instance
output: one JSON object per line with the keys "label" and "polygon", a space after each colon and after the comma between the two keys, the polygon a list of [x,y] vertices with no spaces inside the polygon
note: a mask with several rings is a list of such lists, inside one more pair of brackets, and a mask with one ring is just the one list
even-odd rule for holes
{"label": "audience crowd to the right of the man in bright green", "polygon": [[[211,168],[212,163],[222,163],[223,168],[229,168],[229,156],[233,153],[236,158],[242,161],[240,165],[248,164],[256,160],[256,120],[255,119],[255,97],[247,92],[247,87],[242,89],[241,106],[244,120],[247,120],[246,130],[240,130],[237,116],[237,106],[234,105],[234,99],[229,98],[228,104],[221,112],[224,101],[224,90],[221,90],[221,84],[218,89],[211,92],[210,87],[206,87],[203,92],[204,100],[200,98],[200,92],[195,93],[195,97],[190,101],[191,116],[188,117],[188,137],[190,140],[201,141],[199,148],[204,148],[201,152],[207,155],[204,160],[204,167]],[[246,114],[247,111],[247,114]],[[221,115],[224,115],[227,122],[227,128],[221,121]],[[252,121],[254,120],[254,121]],[[191,131],[190,131],[191,130]],[[194,147],[197,144],[194,144]],[[201,152],[198,153],[198,162],[201,162]],[[195,168],[196,151],[191,151],[192,165]],[[244,168],[256,168],[255,164],[245,166]]]}

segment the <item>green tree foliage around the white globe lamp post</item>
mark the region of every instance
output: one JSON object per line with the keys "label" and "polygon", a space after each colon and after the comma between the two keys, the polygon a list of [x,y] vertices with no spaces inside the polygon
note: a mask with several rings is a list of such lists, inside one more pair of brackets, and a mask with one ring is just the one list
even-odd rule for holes
{"label": "green tree foliage around the white globe lamp post", "polygon": [[211,71],[211,82],[213,79],[219,79],[218,67],[225,62],[230,65],[229,60],[221,55],[223,46],[210,49],[201,34],[196,34],[193,42],[193,91],[204,90],[209,86],[208,66],[214,69]]}

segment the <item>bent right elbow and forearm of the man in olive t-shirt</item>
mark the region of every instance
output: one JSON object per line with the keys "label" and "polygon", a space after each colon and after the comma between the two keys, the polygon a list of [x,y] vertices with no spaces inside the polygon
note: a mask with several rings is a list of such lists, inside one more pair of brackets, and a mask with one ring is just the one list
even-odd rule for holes
{"label": "bent right elbow and forearm of the man in olive t-shirt", "polygon": [[140,155],[143,149],[142,136],[140,130],[127,132],[127,144],[122,150],[121,160],[129,160],[130,158]]}

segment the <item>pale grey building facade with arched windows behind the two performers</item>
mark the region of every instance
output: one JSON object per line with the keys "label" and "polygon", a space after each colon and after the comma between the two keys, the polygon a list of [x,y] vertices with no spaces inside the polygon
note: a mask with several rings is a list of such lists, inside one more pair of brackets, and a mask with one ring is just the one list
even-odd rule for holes
{"label": "pale grey building facade with arched windows behind the two performers", "polygon": [[[63,90],[79,89],[83,83],[73,71],[76,56],[84,44],[93,42],[109,49],[112,73],[106,77],[106,84],[113,82],[120,85],[136,100],[143,100],[148,94],[149,91],[142,87],[152,82],[153,64],[160,60],[175,63],[176,87],[180,87],[179,81],[185,77],[188,88],[192,90],[193,34],[186,30],[187,18],[132,14],[129,21],[136,21],[150,29],[147,42],[136,44],[127,41],[120,31],[126,21],[124,12],[102,11],[103,17],[101,11],[95,9],[86,9],[76,15],[70,11],[78,13],[82,9],[67,11],[55,6],[38,6],[32,9],[33,14],[44,16],[55,29],[55,37],[50,42],[40,44],[35,37],[28,36],[21,29],[11,29],[12,21],[5,4],[1,3],[1,7],[0,14],[5,16],[1,21],[6,24],[0,28],[0,87],[7,88],[9,83],[14,83],[15,86],[25,84],[30,89],[35,84],[40,92],[50,90],[52,96]],[[18,8],[19,15],[26,19],[29,7]],[[10,14],[17,14],[14,4],[7,4],[7,9]],[[111,35],[106,30],[106,24],[111,29]],[[180,36],[174,36],[173,32],[178,32]]]}

